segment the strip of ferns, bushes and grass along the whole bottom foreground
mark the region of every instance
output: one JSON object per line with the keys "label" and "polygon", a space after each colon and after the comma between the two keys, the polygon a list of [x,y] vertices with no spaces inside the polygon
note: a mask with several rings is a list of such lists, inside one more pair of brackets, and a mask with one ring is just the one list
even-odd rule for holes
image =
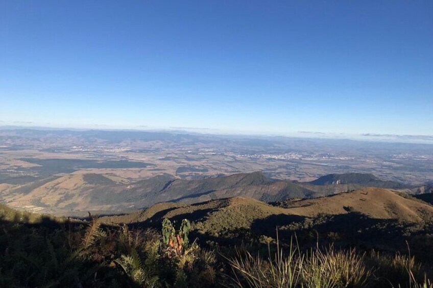
{"label": "strip of ferns, bushes and grass along the whole bottom foreground", "polygon": [[410,253],[300,249],[296,238],[211,247],[187,220],[140,230],[13,213],[0,209],[1,287],[433,287]]}

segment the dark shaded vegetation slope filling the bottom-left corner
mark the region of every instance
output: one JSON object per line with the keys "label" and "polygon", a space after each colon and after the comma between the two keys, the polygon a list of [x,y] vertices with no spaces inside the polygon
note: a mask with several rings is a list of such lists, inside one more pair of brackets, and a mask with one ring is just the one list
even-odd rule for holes
{"label": "dark shaded vegetation slope filling the bottom-left corner", "polygon": [[94,287],[107,277],[130,283],[120,270],[79,256],[82,223],[9,216],[0,215],[0,287]]}

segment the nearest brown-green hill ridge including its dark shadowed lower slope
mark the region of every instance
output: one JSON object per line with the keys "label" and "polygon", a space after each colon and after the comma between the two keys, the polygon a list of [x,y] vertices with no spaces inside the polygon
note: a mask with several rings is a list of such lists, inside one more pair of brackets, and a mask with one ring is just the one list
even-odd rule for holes
{"label": "nearest brown-green hill ridge including its dark shadowed lower slope", "polygon": [[[387,233],[393,229],[395,230],[391,234],[396,235],[397,231],[403,233],[403,228],[412,227],[412,232],[419,232],[425,229],[424,225],[431,227],[433,206],[403,196],[387,189],[363,188],[316,199],[284,200],[272,205],[248,197],[218,199],[191,205],[159,203],[148,210],[133,214],[104,217],[103,221],[158,226],[164,218],[175,221],[187,218],[195,223],[194,229],[200,235],[199,238],[223,242],[243,238],[243,233],[272,235],[277,226],[292,232],[317,226],[317,229],[323,230],[325,237],[332,229],[341,234],[349,231],[357,234],[357,228],[365,227],[367,231],[358,235],[358,241],[371,242],[380,238],[380,235],[389,237],[390,234],[387,236]],[[336,219],[338,223],[335,224]],[[327,223],[333,223],[334,228],[330,231],[320,228],[326,227]],[[369,226],[371,227],[368,228]],[[375,230],[377,234],[373,234],[374,238],[371,238],[371,233]],[[402,239],[400,237],[398,243],[404,244]]]}

